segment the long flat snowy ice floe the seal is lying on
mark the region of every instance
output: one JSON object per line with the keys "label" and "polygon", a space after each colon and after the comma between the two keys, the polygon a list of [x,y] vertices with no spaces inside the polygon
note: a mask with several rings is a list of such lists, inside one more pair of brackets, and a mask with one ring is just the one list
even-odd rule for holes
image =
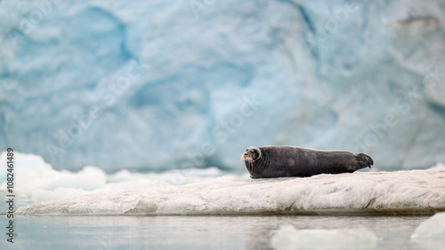
{"label": "long flat snowy ice floe the seal is lying on", "polygon": [[445,211],[445,168],[239,179],[93,192],[19,207],[18,215],[432,215]]}

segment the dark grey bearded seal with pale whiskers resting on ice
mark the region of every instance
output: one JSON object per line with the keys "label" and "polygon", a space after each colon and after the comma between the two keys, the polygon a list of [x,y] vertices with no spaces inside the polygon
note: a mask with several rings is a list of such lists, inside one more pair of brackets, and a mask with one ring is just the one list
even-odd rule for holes
{"label": "dark grey bearded seal with pale whiskers resting on ice", "polygon": [[313,150],[298,146],[247,147],[241,156],[252,178],[308,177],[352,173],[374,164],[364,153]]}

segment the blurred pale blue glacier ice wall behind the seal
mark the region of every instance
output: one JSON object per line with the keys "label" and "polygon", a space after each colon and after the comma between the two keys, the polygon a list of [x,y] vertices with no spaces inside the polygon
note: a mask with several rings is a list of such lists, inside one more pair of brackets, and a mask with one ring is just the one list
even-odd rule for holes
{"label": "blurred pale blue glacier ice wall behind the seal", "polygon": [[0,2],[0,152],[246,171],[249,145],[445,161],[445,1]]}

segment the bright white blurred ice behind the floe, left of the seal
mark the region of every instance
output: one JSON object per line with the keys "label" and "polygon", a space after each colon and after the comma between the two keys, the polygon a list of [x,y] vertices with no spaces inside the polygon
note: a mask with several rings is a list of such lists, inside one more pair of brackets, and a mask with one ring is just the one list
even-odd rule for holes
{"label": "bright white blurred ice behind the floe, left of the seal", "polygon": [[[6,158],[6,152],[1,152],[0,162],[6,162]],[[41,156],[22,152],[14,152],[14,162],[14,194],[17,199],[30,203],[69,199],[99,191],[126,191],[190,184],[223,176],[223,172],[218,168],[190,168],[158,174],[132,173],[121,169],[108,175],[101,168],[85,166],[77,172],[71,172],[66,169],[54,169]],[[2,204],[5,204],[7,173],[6,169],[0,171]]]}

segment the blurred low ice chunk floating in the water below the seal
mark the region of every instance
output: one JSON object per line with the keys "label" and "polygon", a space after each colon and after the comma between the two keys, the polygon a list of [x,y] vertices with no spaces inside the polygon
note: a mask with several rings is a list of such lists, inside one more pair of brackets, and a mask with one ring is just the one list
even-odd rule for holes
{"label": "blurred low ice chunk floating in the water below the seal", "polygon": [[297,230],[283,225],[271,238],[271,246],[287,249],[374,249],[378,238],[372,230]]}

